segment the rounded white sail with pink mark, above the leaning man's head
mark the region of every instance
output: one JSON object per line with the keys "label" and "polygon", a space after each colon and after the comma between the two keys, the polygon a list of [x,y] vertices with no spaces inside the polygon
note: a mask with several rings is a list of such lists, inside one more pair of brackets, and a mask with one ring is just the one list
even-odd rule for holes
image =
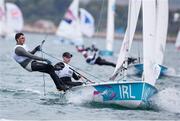
{"label": "rounded white sail with pink mark, above the leaning man's head", "polygon": [[21,31],[24,20],[20,8],[14,3],[6,3],[7,27],[12,31]]}

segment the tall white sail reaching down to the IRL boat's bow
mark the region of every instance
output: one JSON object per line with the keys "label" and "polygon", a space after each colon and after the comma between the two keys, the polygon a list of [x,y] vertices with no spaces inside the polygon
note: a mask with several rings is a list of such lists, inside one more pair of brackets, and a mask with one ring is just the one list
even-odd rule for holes
{"label": "tall white sail reaching down to the IRL boat's bow", "polygon": [[142,1],[143,6],[143,59],[144,81],[154,85],[155,77],[155,52],[156,45],[156,0]]}

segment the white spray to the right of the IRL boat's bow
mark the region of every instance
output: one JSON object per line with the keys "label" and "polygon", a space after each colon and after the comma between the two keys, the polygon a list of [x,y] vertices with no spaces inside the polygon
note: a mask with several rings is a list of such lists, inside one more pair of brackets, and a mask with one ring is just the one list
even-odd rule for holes
{"label": "white spray to the right of the IRL boat's bow", "polygon": [[180,91],[175,88],[160,91],[152,100],[159,110],[180,113]]}

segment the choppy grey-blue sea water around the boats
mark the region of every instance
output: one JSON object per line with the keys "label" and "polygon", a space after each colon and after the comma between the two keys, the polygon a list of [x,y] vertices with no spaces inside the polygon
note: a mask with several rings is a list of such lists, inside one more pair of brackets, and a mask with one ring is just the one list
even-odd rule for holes
{"label": "choppy grey-blue sea water around the boats", "polygon": [[[46,35],[26,34],[27,45],[35,47]],[[113,68],[107,66],[87,65],[81,54],[70,45],[54,42],[53,36],[47,36],[44,51],[61,58],[64,51],[73,54],[71,65],[98,77],[101,80],[112,74]],[[104,41],[100,39],[87,40],[87,45],[95,42],[103,48]],[[180,79],[162,78],[157,82],[159,93],[152,101],[149,110],[130,110],[116,105],[104,105],[88,101],[87,97],[78,95],[64,99],[59,94],[52,80],[45,75],[45,96],[43,75],[38,72],[29,73],[22,69],[13,59],[12,50],[15,40],[0,41],[0,119],[8,120],[179,120],[180,119]],[[118,53],[121,41],[115,41],[115,52]],[[140,42],[134,42],[132,55],[137,55]],[[141,51],[141,50],[139,50]],[[39,53],[41,56],[41,53]],[[141,52],[142,55],[142,52]],[[50,58],[54,63],[57,60]],[[111,60],[115,62],[117,58]],[[165,65],[180,73],[180,53],[173,43],[168,43],[164,59]],[[83,72],[82,72],[83,73]],[[85,74],[85,73],[84,73]],[[87,77],[94,79],[88,74]],[[95,79],[94,79],[95,80]]]}

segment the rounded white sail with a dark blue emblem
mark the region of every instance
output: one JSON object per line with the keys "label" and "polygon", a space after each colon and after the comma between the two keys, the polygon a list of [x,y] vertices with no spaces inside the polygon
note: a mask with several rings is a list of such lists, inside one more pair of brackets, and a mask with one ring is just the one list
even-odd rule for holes
{"label": "rounded white sail with a dark blue emblem", "polygon": [[80,8],[80,25],[83,35],[87,37],[94,35],[94,17],[84,8]]}

